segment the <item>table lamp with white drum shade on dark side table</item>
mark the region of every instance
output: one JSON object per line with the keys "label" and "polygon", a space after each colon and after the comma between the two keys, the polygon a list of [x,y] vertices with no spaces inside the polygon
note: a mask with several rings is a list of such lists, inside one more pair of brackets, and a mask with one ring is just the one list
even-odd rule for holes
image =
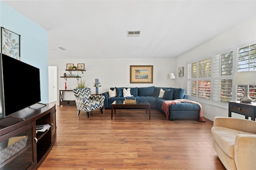
{"label": "table lamp with white drum shade on dark side table", "polygon": [[244,96],[239,100],[241,103],[251,103],[252,99],[248,97],[248,85],[256,85],[256,71],[236,72],[234,85],[244,85]]}

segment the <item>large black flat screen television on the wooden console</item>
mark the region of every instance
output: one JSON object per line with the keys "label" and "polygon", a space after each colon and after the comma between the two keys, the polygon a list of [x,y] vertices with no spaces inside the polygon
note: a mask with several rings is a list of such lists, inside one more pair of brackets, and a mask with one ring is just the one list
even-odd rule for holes
{"label": "large black flat screen television on the wooden console", "polygon": [[41,101],[40,70],[0,54],[0,111],[3,119]]}

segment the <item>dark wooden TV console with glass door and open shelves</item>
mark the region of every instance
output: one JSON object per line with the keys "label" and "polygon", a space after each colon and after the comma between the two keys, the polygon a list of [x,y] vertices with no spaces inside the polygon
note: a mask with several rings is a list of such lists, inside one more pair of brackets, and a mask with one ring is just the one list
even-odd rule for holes
{"label": "dark wooden TV console with glass door and open shelves", "polygon": [[[46,124],[49,130],[36,132],[36,125]],[[38,169],[55,139],[55,103],[35,104],[0,120],[0,170]]]}

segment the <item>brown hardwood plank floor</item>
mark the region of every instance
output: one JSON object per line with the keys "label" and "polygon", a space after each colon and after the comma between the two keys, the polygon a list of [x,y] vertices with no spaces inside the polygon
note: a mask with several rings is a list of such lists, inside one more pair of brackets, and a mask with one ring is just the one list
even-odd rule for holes
{"label": "brown hardwood plank floor", "polygon": [[39,170],[225,170],[212,146],[213,122],[166,120],[151,110],[90,112],[56,105],[56,142]]}

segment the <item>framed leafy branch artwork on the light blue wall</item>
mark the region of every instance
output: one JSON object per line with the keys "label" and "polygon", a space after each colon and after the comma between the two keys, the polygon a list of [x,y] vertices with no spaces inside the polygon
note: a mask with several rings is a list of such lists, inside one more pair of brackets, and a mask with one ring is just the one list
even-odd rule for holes
{"label": "framed leafy branch artwork on the light blue wall", "polygon": [[1,27],[2,53],[20,60],[20,35]]}

